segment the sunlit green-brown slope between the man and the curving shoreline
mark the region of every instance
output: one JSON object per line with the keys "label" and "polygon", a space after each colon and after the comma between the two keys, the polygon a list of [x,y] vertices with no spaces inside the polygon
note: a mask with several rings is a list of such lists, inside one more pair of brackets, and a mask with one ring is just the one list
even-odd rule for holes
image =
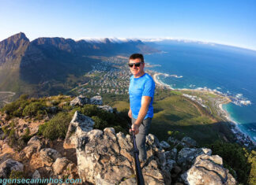
{"label": "sunlit green-brown slope between the man and the curving shoreline", "polygon": [[[126,101],[114,102],[112,105],[119,111],[129,109]],[[149,132],[160,140],[168,139],[168,131],[179,131],[181,137],[190,136],[199,144],[231,137],[228,124],[220,121],[219,117],[213,117],[208,109],[183,97],[179,92],[156,93],[153,106],[154,117]]]}

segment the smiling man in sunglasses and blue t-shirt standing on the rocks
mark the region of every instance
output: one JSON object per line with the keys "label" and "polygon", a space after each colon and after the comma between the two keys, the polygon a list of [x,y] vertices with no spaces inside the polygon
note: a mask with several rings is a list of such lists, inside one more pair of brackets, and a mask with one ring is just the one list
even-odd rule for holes
{"label": "smiling man in sunglasses and blue t-shirt standing on the rocks", "polygon": [[154,98],[155,82],[149,74],[144,72],[144,57],[142,54],[132,54],[129,58],[130,72],[130,110],[128,116],[132,119],[132,127],[136,136],[139,159],[145,162],[147,153],[145,137],[149,134],[149,127],[153,117],[152,102]]}

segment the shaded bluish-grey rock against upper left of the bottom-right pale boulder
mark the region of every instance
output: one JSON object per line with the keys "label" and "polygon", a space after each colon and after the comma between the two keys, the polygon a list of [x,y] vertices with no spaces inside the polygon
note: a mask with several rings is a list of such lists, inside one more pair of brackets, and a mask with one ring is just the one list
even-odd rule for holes
{"label": "shaded bluish-grey rock against upper left of the bottom-right pale boulder", "polygon": [[190,168],[194,159],[201,154],[211,154],[211,150],[205,148],[183,148],[179,151],[177,163],[183,170]]}

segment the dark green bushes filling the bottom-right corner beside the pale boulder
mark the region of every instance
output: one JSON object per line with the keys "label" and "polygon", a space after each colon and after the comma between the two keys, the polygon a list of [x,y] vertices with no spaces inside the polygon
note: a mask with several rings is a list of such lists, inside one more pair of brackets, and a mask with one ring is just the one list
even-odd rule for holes
{"label": "dark green bushes filling the bottom-right corner beside the pale boulder", "polygon": [[213,142],[207,146],[223,158],[224,167],[228,168],[232,176],[243,184],[256,182],[256,152],[249,151],[236,143]]}

